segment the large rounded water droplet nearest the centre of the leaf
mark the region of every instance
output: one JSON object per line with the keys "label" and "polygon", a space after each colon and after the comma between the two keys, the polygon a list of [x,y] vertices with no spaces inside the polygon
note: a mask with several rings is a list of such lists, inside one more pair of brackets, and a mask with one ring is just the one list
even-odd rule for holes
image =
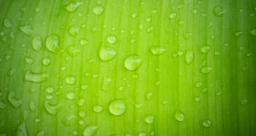
{"label": "large rounded water droplet nearest the centre of the leaf", "polygon": [[133,54],[126,58],[125,67],[128,70],[136,70],[141,65],[142,58],[139,55]]}

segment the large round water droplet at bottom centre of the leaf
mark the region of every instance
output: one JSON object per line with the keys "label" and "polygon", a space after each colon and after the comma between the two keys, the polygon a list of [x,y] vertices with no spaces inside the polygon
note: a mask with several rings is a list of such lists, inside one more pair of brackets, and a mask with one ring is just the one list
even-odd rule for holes
{"label": "large round water droplet at bottom centre of the leaf", "polygon": [[122,99],[115,99],[109,105],[110,112],[115,115],[121,115],[126,111],[126,104]]}

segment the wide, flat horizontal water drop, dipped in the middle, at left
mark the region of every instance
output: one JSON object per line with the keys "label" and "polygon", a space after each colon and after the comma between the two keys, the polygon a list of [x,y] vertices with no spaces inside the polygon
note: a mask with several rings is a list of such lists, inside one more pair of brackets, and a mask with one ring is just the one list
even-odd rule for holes
{"label": "wide, flat horizontal water drop, dipped in the middle, at left", "polygon": [[27,70],[25,74],[25,79],[27,81],[32,81],[35,83],[40,83],[46,81],[49,75],[47,72],[34,73],[31,70]]}

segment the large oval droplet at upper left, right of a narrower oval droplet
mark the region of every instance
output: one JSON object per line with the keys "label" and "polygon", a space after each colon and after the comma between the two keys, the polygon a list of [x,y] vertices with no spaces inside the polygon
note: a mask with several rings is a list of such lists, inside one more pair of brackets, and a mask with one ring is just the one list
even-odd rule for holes
{"label": "large oval droplet at upper left, right of a narrower oval droplet", "polygon": [[56,34],[51,34],[46,39],[46,47],[49,51],[57,53],[59,50],[59,37]]}

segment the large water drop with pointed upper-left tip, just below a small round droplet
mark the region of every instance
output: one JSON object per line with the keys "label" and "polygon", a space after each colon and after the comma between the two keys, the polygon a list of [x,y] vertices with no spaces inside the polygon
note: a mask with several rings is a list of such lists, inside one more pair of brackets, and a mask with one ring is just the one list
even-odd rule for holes
{"label": "large water drop with pointed upper-left tip, just below a small round droplet", "polygon": [[117,56],[117,51],[115,48],[110,46],[106,46],[103,42],[101,43],[101,47],[99,48],[99,58],[101,61],[110,61]]}

